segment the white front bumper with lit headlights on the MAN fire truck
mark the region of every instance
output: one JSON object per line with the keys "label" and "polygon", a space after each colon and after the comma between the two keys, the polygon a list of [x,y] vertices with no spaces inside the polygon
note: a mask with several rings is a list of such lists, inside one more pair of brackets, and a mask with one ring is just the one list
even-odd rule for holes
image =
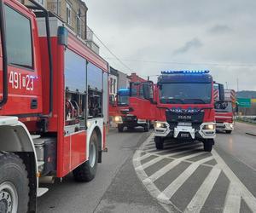
{"label": "white front bumper with lit headlights on the MAN fire truck", "polygon": [[[189,139],[189,140],[204,140],[214,139],[216,135],[215,123],[202,123],[198,129],[191,125],[180,125],[170,127],[167,122],[156,121],[156,123],[163,124],[162,127],[154,126],[154,135],[160,137],[172,137],[176,139]],[[213,130],[205,130],[206,125],[213,125]],[[165,127],[163,127],[165,126]]]}

